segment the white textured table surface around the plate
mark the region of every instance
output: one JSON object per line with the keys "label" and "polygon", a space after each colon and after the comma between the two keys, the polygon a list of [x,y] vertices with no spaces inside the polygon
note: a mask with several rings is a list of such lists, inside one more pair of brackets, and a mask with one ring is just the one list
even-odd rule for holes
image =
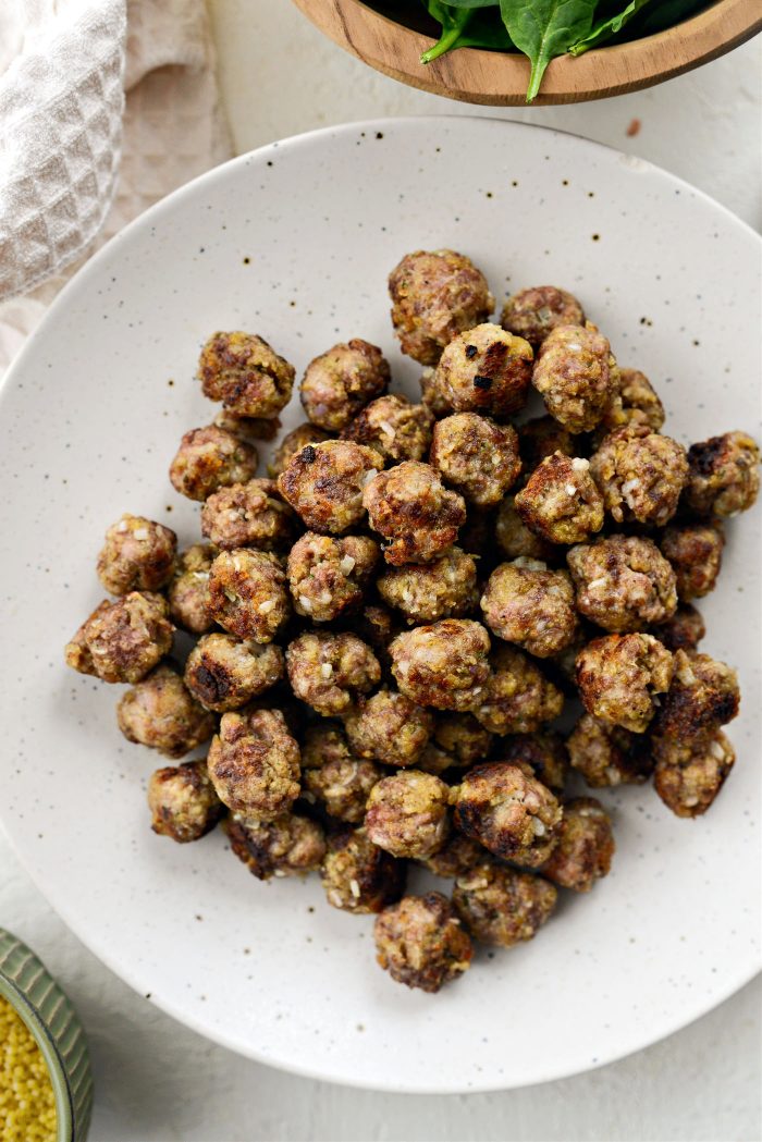
{"label": "white textured table surface around the plate", "polygon": [[[211,0],[211,10],[239,151],[347,119],[497,114],[650,159],[760,228],[759,41],[619,99],[497,111],[449,103],[377,75],[323,40],[287,0]],[[628,137],[635,119],[640,131]],[[380,1095],[295,1078],[207,1043],[136,996],[79,943],[1,834],[0,870],[0,924],[42,956],[88,1029],[95,1142],[759,1142],[762,1136],[760,979],[669,1039],[577,1078],[504,1094]]]}

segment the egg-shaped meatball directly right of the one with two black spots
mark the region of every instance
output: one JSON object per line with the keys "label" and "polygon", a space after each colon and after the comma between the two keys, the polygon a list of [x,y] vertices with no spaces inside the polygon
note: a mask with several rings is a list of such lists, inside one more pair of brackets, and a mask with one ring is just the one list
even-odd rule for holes
{"label": "egg-shaped meatball directly right of the one with two black spots", "polygon": [[569,432],[589,432],[619,384],[608,338],[594,325],[556,325],[539,348],[532,385]]}

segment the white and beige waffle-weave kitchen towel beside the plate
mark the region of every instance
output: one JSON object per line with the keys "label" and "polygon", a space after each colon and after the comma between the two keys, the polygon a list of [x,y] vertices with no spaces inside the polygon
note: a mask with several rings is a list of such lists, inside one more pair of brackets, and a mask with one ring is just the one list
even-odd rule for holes
{"label": "white and beige waffle-weave kitchen towel beside the plate", "polygon": [[230,154],[203,0],[0,2],[0,373],[98,244]]}

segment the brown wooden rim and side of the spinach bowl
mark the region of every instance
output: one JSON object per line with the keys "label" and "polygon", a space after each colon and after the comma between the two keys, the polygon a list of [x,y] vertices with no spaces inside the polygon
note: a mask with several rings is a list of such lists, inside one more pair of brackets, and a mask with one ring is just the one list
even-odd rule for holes
{"label": "brown wooden rim and side of the spinach bowl", "polygon": [[[402,83],[464,103],[518,106],[526,102],[529,62],[522,55],[458,48],[424,66],[419,56],[436,33],[423,5],[418,11],[415,0],[294,2],[340,47]],[[761,30],[759,0],[717,0],[656,35],[597,48],[576,59],[554,59],[535,105],[581,103],[652,87],[716,59]]]}

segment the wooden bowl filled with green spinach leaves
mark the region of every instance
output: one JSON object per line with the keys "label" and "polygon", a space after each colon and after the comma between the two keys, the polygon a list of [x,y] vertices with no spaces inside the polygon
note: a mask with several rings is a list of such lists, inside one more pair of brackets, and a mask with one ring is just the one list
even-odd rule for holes
{"label": "wooden bowl filled with green spinach leaves", "polygon": [[467,103],[599,99],[698,67],[762,30],[753,0],[295,0],[394,79]]}

